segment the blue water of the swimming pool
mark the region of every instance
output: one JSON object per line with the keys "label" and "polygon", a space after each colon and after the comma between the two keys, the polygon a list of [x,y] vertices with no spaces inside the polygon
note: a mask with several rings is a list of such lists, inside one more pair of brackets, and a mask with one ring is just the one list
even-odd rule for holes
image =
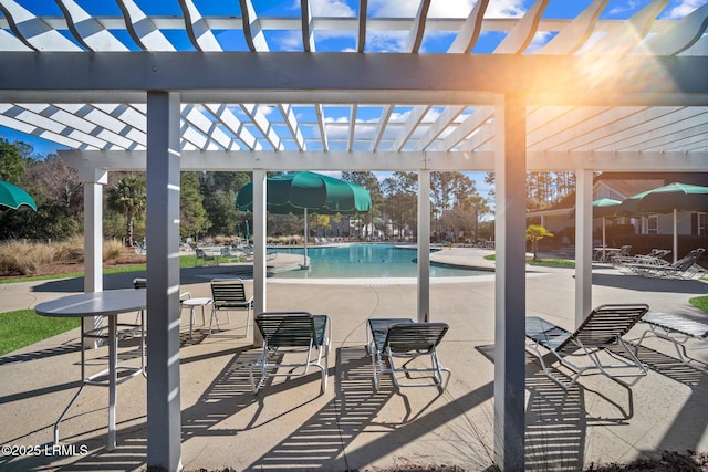
{"label": "blue water of the swimming pool", "polygon": [[[271,252],[303,254],[302,248],[269,249]],[[348,244],[308,248],[310,269],[275,274],[277,279],[358,279],[358,277],[415,277],[418,265],[415,247],[397,248],[394,244]],[[430,264],[431,277],[470,276],[489,274],[486,271],[455,269]]]}

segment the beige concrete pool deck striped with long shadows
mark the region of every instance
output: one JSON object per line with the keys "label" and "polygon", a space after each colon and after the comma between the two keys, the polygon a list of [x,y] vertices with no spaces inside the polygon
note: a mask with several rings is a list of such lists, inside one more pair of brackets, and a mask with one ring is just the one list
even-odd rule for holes
{"label": "beige concrete pool deck striped with long shadows", "polygon": [[[442,263],[493,265],[483,259],[489,252],[454,248],[434,255]],[[183,270],[181,289],[194,296],[209,296],[210,276],[238,276],[246,270],[227,265]],[[105,289],[129,286],[134,275],[106,276]],[[529,266],[528,313],[571,327],[574,286],[572,269]],[[242,329],[242,314],[232,314],[232,323],[212,337],[206,337],[198,324],[189,340],[185,311],[179,359],[185,470],[376,471],[456,464],[481,471],[491,464],[493,274],[430,285],[430,317],[450,325],[439,349],[442,364],[452,371],[442,394],[434,388],[398,390],[386,378],[378,392],[373,389],[364,348],[366,319],[415,317],[415,283],[269,279],[267,287],[269,310],[332,316],[327,390],[320,395],[320,376],[313,369],[304,377],[278,378],[254,396],[248,366],[258,350],[251,339],[229,336]],[[0,312],[80,291],[81,279],[0,285]],[[698,295],[708,295],[707,283],[624,275],[607,264],[593,268],[593,306],[642,302],[653,310],[708,322],[705,313],[688,303]],[[639,327],[634,328],[628,338],[641,334]],[[67,332],[0,357],[1,444],[43,448],[51,441],[52,424],[79,385],[77,337],[77,331]],[[663,450],[708,451],[708,374],[671,364],[676,353],[666,342],[652,338],[646,345],[650,349],[642,349],[639,356],[650,370],[631,389],[603,376],[583,376],[564,392],[528,357],[527,470],[579,470]],[[131,358],[135,350],[128,343],[122,358],[136,363]],[[689,352],[708,361],[708,343],[691,340]],[[98,364],[106,349],[90,355]],[[85,447],[85,454],[61,457],[43,449],[37,455],[3,454],[0,470],[145,468],[146,380],[138,377],[118,387],[115,451],[105,449],[106,405],[106,389],[86,387],[62,422],[63,443]]]}

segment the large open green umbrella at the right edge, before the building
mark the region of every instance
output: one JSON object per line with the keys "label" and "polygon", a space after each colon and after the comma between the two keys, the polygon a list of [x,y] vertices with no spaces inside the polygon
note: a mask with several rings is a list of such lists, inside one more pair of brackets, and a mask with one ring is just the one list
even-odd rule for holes
{"label": "large open green umbrella at the right edge, before the building", "polygon": [[629,197],[618,212],[674,213],[674,262],[678,259],[678,211],[708,212],[708,187],[674,182]]}

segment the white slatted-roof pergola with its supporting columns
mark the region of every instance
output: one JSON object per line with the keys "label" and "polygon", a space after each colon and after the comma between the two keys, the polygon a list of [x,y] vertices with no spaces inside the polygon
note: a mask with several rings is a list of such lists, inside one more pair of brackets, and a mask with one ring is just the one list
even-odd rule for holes
{"label": "white slatted-roof pergola with its supporting columns", "polygon": [[[576,172],[575,319],[590,312],[592,176],[597,170],[708,168],[708,4],[657,20],[654,0],[628,20],[601,20],[607,0],[572,19],[548,0],[521,18],[290,17],[232,2],[206,15],[119,14],[55,0],[0,0],[0,126],[70,147],[85,191],[85,291],[103,290],[102,188],[112,170],[147,172],[148,466],[180,464],[178,239],[180,170],[253,172],[256,310],[266,310],[266,172],[418,172],[418,317],[429,313],[430,172],[496,172],[494,428],[498,464],[523,468],[527,171]],[[144,7],[147,8],[147,7]],[[476,50],[498,34],[493,51]],[[402,38],[394,53],[371,43]],[[431,38],[447,53],[424,53]],[[272,51],[288,36],[293,51]],[[326,50],[341,36],[346,51]],[[544,38],[539,46],[534,38]],[[323,52],[320,52],[322,50]]]}

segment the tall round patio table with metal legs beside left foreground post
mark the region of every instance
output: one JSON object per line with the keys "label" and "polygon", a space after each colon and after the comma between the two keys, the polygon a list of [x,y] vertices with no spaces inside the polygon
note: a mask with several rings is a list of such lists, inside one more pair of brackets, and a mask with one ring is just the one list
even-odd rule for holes
{"label": "tall round patio table with metal legs beside left foreground post", "polygon": [[[69,295],[50,302],[40,303],[34,307],[34,312],[42,316],[55,317],[81,317],[81,387],[71,399],[64,411],[60,415],[54,423],[54,443],[59,443],[59,423],[64,415],[69,411],[79,394],[86,385],[97,385],[108,387],[108,450],[114,450],[115,439],[115,407],[116,407],[116,385],[117,369],[129,371],[129,375],[123,377],[121,382],[135,377],[138,374],[145,374],[145,357],[142,352],[140,367],[118,366],[118,331],[117,315],[127,312],[139,312],[145,310],[147,297],[145,289],[124,289],[111,290],[105,292],[81,293]],[[86,331],[85,318],[93,316],[108,317],[108,335],[100,333],[104,328]],[[144,326],[140,327],[140,346],[144,346]],[[87,338],[103,338],[108,343],[108,368],[101,373],[86,377],[86,355],[84,340]],[[96,380],[98,377],[105,377],[108,374],[107,381]]]}

